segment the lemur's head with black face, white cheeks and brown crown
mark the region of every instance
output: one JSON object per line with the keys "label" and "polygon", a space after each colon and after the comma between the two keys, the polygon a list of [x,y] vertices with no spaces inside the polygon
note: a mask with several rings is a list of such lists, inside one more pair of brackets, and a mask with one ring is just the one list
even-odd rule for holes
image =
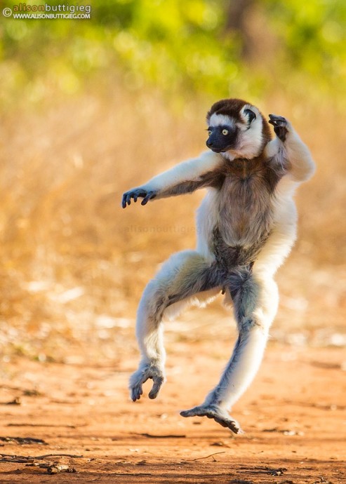
{"label": "lemur's head with black face, white cheeks and brown crown", "polygon": [[206,145],[231,159],[258,156],[271,139],[270,127],[257,107],[241,99],[215,102],[206,116]]}

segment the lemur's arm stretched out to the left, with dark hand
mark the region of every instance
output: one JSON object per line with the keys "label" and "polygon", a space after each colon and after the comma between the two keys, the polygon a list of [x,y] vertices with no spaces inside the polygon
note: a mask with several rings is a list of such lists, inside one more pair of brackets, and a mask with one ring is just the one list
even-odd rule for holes
{"label": "lemur's arm stretched out to the left, with dark hand", "polygon": [[183,161],[170,170],[157,175],[140,187],[126,191],[122,206],[131,205],[131,199],[142,198],[142,205],[152,199],[192,193],[199,188],[213,187],[222,175],[215,173],[215,168],[222,163],[220,154],[205,152],[199,158]]}

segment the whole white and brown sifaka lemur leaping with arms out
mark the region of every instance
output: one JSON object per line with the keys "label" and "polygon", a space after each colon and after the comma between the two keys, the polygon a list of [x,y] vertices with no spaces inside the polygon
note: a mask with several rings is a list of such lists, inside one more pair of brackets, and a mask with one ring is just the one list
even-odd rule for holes
{"label": "whole white and brown sifaka lemur leaping with arms out", "polygon": [[131,199],[145,205],[208,189],[197,211],[196,250],[173,254],[142,295],[136,330],[142,359],[129,387],[132,400],[139,400],[142,384],[152,379],[149,398],[157,397],[165,380],[162,318],[222,292],[239,331],[232,357],[204,403],[180,415],[206,416],[234,433],[242,431],[229,410],[262,361],[279,301],[274,274],[296,238],[293,194],[314,173],[309,149],[291,123],[269,117],[273,140],[257,107],[239,99],[215,102],[206,118],[210,151],[127,191],[122,200],[126,208]]}

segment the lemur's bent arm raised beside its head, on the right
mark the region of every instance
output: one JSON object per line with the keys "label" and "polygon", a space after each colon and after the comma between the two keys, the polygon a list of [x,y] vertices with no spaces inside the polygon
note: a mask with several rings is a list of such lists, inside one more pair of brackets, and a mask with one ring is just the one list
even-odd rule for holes
{"label": "lemur's bent arm raised beside its head, on the right", "polygon": [[306,144],[300,140],[286,118],[270,114],[270,123],[277,137],[265,147],[265,158],[272,159],[273,168],[281,168],[293,182],[305,182],[314,174],[315,166]]}

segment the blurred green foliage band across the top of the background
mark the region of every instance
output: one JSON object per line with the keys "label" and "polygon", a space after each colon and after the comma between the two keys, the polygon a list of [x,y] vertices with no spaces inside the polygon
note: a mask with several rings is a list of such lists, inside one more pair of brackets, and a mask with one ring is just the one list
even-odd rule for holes
{"label": "blurred green foliage band across the top of the background", "polygon": [[[1,13],[19,3],[5,0]],[[45,3],[64,4],[27,1]],[[237,5],[234,28],[230,17]],[[13,102],[18,93],[34,103],[72,95],[87,90],[91,79],[100,89],[122,79],[133,90],[149,84],[175,95],[218,98],[262,93],[278,79],[283,86],[292,80],[301,90],[308,84],[340,93],[345,26],[345,0],[98,0],[91,20],[1,15],[0,104]]]}

